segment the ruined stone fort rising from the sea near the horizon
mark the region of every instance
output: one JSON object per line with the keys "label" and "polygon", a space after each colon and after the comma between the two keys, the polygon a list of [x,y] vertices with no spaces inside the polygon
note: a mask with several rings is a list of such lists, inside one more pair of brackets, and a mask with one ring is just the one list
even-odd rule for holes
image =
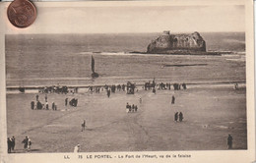
{"label": "ruined stone fort rising from the sea near the horizon", "polygon": [[147,53],[206,53],[206,42],[197,31],[191,34],[170,34],[169,31],[163,31],[148,45]]}

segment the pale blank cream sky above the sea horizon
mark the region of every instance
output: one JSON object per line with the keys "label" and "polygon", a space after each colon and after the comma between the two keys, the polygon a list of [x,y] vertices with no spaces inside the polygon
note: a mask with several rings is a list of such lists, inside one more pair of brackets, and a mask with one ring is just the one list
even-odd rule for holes
{"label": "pale blank cream sky above the sea horizon", "polygon": [[24,33],[245,31],[243,5],[40,7]]}

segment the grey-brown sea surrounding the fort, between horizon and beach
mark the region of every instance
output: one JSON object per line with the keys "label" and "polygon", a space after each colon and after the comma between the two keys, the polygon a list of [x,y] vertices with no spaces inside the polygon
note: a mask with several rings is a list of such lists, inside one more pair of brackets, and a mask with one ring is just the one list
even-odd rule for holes
{"label": "grey-brown sea surrounding the fort, between horizon and beach", "polygon": [[[245,81],[244,32],[201,33],[207,50],[224,52],[221,56],[143,54],[158,35],[9,34],[5,39],[6,84]],[[91,77],[92,55],[99,74],[96,79]]]}

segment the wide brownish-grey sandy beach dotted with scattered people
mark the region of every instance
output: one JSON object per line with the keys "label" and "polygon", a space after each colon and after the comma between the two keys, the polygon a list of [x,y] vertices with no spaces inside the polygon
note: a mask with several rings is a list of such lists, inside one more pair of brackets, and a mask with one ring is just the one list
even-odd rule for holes
{"label": "wide brownish-grey sandy beach dotted with scattered people", "polygon": [[[247,148],[245,88],[232,86],[188,87],[186,90],[139,89],[124,91],[47,94],[58,111],[31,110],[35,93],[7,94],[7,136],[16,136],[16,152],[25,152],[22,140],[32,139],[31,152],[82,152],[222,150],[233,136],[234,149]],[[174,95],[175,104],[170,104]],[[78,107],[65,107],[65,98],[78,98]],[[142,97],[142,104],[139,98]],[[39,94],[44,101],[44,94]],[[126,103],[138,105],[126,113]],[[182,112],[184,121],[174,122]],[[83,120],[87,121],[81,132]]]}

